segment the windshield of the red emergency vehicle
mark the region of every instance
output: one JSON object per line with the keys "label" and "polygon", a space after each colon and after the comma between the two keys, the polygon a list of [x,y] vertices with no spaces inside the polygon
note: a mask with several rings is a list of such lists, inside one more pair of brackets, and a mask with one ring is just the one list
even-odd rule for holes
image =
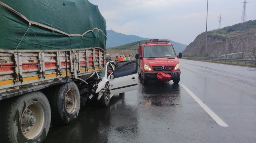
{"label": "windshield of the red emergency vehicle", "polygon": [[145,46],[144,58],[155,57],[176,57],[176,54],[172,45]]}

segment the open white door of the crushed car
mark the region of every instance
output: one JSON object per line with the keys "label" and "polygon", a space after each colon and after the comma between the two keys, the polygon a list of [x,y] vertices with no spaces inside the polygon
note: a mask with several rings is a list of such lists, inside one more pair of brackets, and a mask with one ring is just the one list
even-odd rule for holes
{"label": "open white door of the crushed car", "polygon": [[138,89],[138,61],[133,60],[117,67],[108,77],[111,94]]}

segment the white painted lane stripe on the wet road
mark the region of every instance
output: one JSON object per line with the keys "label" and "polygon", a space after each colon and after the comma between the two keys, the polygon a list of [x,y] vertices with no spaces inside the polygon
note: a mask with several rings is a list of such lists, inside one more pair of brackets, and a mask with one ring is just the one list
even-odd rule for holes
{"label": "white painted lane stripe on the wet road", "polygon": [[180,84],[188,93],[189,95],[211,116],[211,118],[217,122],[220,126],[228,127],[228,125],[220,119],[220,117],[215,114],[208,106],[206,106],[197,96],[193,94],[185,85]]}

